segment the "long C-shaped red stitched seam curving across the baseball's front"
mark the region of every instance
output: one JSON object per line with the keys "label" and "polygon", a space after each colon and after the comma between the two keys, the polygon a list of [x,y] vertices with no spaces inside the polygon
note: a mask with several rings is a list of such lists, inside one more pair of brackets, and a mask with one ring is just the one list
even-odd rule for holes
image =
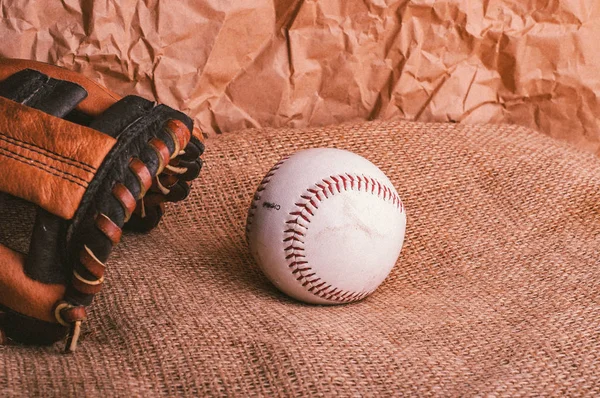
{"label": "long C-shaped red stitched seam curving across the baseball's front", "polygon": [[285,238],[283,239],[285,258],[296,280],[310,293],[339,303],[361,300],[371,294],[373,290],[363,292],[342,290],[321,279],[309,265],[304,254],[304,238],[308,231],[308,224],[319,208],[319,203],[330,196],[346,191],[371,193],[392,203],[400,212],[404,212],[404,205],[398,194],[375,178],[349,173],[330,176],[322,179],[314,185],[314,188],[307,189],[301,195],[300,200],[295,204],[296,208],[289,213],[292,217],[286,221],[288,229],[284,231]]}

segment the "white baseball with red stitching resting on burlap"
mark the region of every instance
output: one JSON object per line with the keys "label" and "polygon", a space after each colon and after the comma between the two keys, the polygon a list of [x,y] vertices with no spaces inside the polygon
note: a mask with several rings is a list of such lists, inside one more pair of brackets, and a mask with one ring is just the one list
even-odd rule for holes
{"label": "white baseball with red stitching resting on burlap", "polygon": [[367,159],[314,148],[283,158],[260,183],[246,238],[282,292],[313,304],[361,300],[394,267],[406,230],[404,205]]}

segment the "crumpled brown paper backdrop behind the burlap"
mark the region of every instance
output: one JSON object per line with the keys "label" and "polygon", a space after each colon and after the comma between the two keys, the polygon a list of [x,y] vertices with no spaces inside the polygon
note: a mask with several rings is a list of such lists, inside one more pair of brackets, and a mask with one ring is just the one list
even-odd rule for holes
{"label": "crumpled brown paper backdrop behind the burlap", "polygon": [[516,123],[600,154],[596,0],[5,0],[0,56],[80,71],[206,135]]}

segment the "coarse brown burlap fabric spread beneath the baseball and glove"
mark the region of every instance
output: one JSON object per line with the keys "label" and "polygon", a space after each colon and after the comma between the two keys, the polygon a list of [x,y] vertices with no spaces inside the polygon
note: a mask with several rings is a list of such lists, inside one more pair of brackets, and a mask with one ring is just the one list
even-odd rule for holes
{"label": "coarse brown burlap fabric spread beneath the baseball and glove", "polygon": [[[286,298],[244,241],[264,173],[318,146],[373,161],[407,209],[398,264],[357,304]],[[600,394],[593,155],[399,122],[223,135],[205,159],[191,200],[117,247],[77,353],[0,348],[3,396]]]}

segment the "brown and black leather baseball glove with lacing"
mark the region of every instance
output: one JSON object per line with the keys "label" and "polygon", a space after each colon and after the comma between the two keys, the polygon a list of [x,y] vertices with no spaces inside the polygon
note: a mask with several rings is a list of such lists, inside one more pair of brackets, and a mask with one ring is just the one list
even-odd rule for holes
{"label": "brown and black leather baseball glove with lacing", "polygon": [[168,106],[0,60],[0,209],[35,208],[26,254],[0,244],[0,340],[66,337],[73,351],[122,229],[148,231],[165,202],[185,199],[203,151]]}

